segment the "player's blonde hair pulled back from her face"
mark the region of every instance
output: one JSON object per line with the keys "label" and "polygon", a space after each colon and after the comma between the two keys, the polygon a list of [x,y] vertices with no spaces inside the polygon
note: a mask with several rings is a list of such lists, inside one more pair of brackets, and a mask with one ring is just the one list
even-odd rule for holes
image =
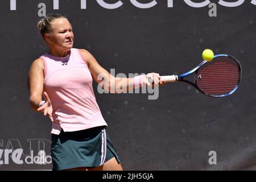
{"label": "player's blonde hair pulled back from her face", "polygon": [[40,34],[43,36],[44,39],[44,34],[50,34],[51,33],[51,23],[53,20],[58,19],[58,18],[66,18],[65,15],[60,15],[60,14],[48,14],[44,18],[40,19],[38,21],[38,30]]}

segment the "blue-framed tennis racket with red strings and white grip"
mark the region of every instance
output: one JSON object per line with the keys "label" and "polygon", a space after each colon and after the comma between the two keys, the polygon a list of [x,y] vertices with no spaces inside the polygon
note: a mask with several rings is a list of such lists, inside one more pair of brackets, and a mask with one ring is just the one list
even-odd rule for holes
{"label": "blue-framed tennis racket with red strings and white grip", "polygon": [[[193,81],[184,78],[195,73]],[[203,61],[191,71],[181,75],[160,76],[161,81],[183,81],[195,86],[201,93],[211,97],[225,97],[234,93],[242,76],[241,64],[230,55],[215,55],[212,61]],[[148,82],[152,83],[152,77]]]}

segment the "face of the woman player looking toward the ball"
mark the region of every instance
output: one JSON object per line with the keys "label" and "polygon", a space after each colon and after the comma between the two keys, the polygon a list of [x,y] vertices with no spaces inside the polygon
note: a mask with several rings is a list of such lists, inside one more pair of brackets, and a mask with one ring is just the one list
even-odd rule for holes
{"label": "face of the woman player looking toward the ball", "polygon": [[57,18],[51,23],[50,46],[69,50],[73,47],[74,34],[66,18]]}

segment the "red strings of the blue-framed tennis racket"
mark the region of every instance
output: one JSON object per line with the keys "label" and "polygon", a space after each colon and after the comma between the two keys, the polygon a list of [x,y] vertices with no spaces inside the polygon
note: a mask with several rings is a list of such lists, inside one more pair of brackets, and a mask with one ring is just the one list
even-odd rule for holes
{"label": "red strings of the blue-framed tennis racket", "polygon": [[196,84],[201,91],[221,96],[234,90],[240,82],[240,67],[232,59],[217,60],[197,71]]}

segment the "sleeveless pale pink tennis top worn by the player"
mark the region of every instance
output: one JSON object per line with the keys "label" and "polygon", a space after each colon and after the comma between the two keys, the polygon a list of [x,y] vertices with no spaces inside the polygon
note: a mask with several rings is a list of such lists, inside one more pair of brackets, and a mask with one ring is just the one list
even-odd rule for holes
{"label": "sleeveless pale pink tennis top worn by the player", "polygon": [[48,53],[44,60],[44,91],[52,102],[52,134],[108,126],[93,93],[92,75],[79,49],[72,48],[65,57]]}

